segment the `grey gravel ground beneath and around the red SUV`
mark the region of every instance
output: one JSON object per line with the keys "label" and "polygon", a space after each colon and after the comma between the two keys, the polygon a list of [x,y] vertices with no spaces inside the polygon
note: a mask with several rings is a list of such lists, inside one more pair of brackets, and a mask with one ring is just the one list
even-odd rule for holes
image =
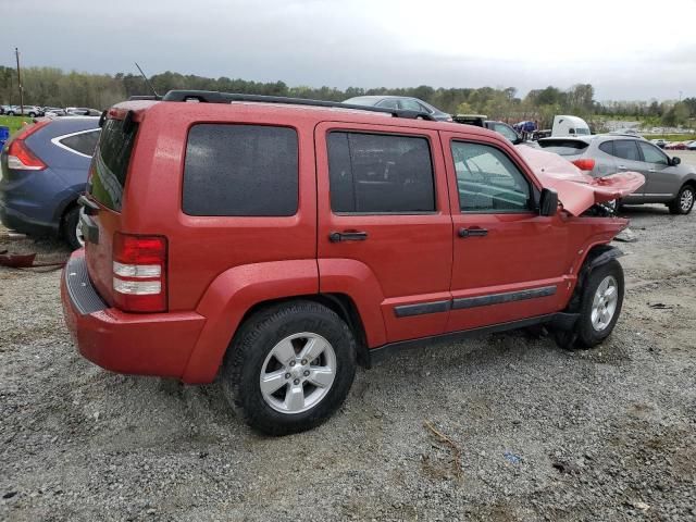
{"label": "grey gravel ground beneath and around the red SUV", "polygon": [[[284,438],[250,432],[216,385],[83,360],[60,272],[0,269],[0,520],[696,520],[696,213],[626,215],[638,241],[619,245],[626,300],[602,346],[407,351]],[[2,228],[0,247],[67,254]]]}

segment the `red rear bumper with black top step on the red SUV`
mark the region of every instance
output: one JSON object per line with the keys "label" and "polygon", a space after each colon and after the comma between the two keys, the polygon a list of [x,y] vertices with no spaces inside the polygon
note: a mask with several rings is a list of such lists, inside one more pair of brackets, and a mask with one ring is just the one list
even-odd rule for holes
{"label": "red rear bumper with black top step on the red SUV", "polygon": [[124,313],[103,302],[84,250],[73,252],[61,277],[63,314],[77,349],[117,373],[182,377],[206,322],[195,312]]}

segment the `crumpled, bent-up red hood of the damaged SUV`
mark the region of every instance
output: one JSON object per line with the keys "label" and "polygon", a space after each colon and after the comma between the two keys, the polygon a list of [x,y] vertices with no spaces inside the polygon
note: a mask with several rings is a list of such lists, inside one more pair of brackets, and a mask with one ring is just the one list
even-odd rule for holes
{"label": "crumpled, bent-up red hood of the damaged SUV", "polygon": [[592,177],[562,157],[532,147],[517,147],[546,188],[558,192],[558,200],[572,215],[580,215],[595,203],[612,201],[634,192],[645,183],[637,172]]}

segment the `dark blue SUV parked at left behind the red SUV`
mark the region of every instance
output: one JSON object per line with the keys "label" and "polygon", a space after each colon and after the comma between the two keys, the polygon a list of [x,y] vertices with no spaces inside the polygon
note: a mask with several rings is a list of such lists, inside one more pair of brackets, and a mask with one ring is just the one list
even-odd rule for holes
{"label": "dark blue SUV parked at left behind the red SUV", "polygon": [[0,220],[29,235],[60,235],[79,248],[77,198],[99,137],[98,117],[41,120],[0,154]]}

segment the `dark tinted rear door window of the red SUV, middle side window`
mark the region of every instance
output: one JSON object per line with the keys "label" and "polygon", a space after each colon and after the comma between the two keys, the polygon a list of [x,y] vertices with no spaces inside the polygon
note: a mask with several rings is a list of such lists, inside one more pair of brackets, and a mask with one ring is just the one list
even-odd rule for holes
{"label": "dark tinted rear door window of the red SUV, middle side window", "polygon": [[334,212],[435,210],[427,139],[335,132],[328,135],[327,145]]}

